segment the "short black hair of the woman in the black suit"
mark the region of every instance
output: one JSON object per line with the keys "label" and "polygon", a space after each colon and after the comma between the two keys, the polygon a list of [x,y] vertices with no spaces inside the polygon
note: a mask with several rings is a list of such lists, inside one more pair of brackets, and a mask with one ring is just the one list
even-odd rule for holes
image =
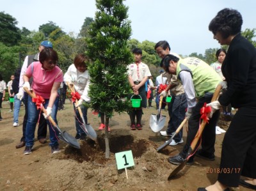
{"label": "short black hair of the woman in the black suit", "polygon": [[209,31],[213,34],[220,32],[223,38],[241,33],[243,18],[237,10],[225,8],[219,11],[209,24]]}

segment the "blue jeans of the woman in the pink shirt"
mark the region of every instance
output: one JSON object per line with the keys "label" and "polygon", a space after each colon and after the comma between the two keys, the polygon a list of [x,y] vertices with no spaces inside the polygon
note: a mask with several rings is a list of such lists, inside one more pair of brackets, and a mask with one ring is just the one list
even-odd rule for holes
{"label": "blue jeans of the woman in the pink shirt", "polygon": [[[56,119],[57,112],[58,112],[58,102],[59,102],[59,97],[56,98],[52,106],[52,113],[51,113],[51,117],[56,124],[58,124]],[[45,103],[43,105],[45,108],[47,108],[48,104],[49,104],[49,99],[45,100]],[[36,105],[35,103],[32,102],[31,96],[28,96],[28,121],[26,126],[26,146],[34,145],[35,128],[36,128],[36,123],[38,121],[39,116],[40,116],[40,109],[39,110],[36,109]],[[51,141],[49,145],[50,146],[59,145],[58,139],[54,131],[54,127],[51,125],[49,120],[47,120],[47,124],[49,126],[50,141]]]}

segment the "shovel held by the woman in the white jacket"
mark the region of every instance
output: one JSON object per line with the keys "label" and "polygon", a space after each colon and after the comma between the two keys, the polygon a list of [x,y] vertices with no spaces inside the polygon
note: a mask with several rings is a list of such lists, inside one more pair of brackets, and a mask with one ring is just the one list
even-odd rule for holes
{"label": "shovel held by the woman in the white jacket", "polygon": [[[69,82],[67,82],[67,85],[68,85],[68,88],[73,92],[75,93],[75,88],[74,86],[70,86]],[[75,105],[75,103],[73,103]],[[77,104],[77,99],[76,99],[76,104]],[[83,116],[83,112],[81,111],[81,108],[80,107],[77,107],[77,110],[79,112],[79,115],[82,119],[82,122],[83,124],[79,125],[81,127],[81,129],[84,131],[84,133],[90,138],[92,139],[93,141],[96,141],[97,139],[97,134],[95,132],[95,130],[92,128],[92,126],[90,124],[86,124],[85,123],[85,120],[84,120],[84,116]]]}

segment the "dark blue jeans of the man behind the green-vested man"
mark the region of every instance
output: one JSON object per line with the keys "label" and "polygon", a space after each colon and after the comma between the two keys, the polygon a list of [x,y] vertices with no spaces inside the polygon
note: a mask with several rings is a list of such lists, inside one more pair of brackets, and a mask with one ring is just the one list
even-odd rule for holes
{"label": "dark blue jeans of the man behind the green-vested man", "polygon": [[[170,121],[168,123],[168,128],[166,130],[166,133],[168,135],[175,132],[179,127],[180,123],[184,120],[187,107],[188,103],[185,93],[172,97],[172,102],[170,103],[170,107],[168,107],[168,110],[170,110],[171,114]],[[180,132],[173,138],[173,140],[175,142],[181,141],[182,135],[183,132],[181,129]]]}

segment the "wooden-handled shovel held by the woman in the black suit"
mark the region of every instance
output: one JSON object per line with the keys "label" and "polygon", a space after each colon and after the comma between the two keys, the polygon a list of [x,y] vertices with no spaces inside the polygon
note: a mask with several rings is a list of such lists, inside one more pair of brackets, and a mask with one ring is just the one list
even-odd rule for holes
{"label": "wooden-handled shovel held by the woman in the black suit", "polygon": [[[218,96],[220,95],[220,90],[221,90],[221,85],[218,85],[217,88],[214,91],[214,95],[212,96],[212,100],[211,102],[214,102],[218,99]],[[186,159],[176,168],[174,169],[174,171],[171,172],[171,174],[168,176],[168,180],[172,180],[173,176],[175,176],[175,174],[177,174],[179,171],[181,171],[183,169],[183,167],[186,165],[186,163],[188,162],[189,158],[192,156],[191,154],[193,153],[196,144],[198,142],[198,140],[200,139],[202,132],[204,130],[204,127],[206,125],[206,121],[203,120],[203,122],[201,123],[200,128],[198,129],[198,132],[195,135],[195,139],[191,142],[191,145],[188,149],[188,153],[186,155]]]}

